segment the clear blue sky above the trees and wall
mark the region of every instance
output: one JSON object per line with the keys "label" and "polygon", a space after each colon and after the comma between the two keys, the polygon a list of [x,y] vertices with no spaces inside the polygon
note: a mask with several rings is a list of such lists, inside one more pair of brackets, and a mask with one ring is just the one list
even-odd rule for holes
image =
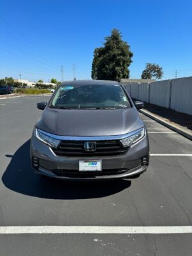
{"label": "clear blue sky above the trees and wall", "polygon": [[164,78],[192,76],[192,1],[0,0],[0,77],[90,79],[93,51],[111,29],[134,53],[131,78],[157,63]]}

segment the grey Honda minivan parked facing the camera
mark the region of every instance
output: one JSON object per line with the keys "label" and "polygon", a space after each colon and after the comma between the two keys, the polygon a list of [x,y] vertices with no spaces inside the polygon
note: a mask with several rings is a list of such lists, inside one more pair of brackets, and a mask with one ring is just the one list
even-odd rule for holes
{"label": "grey Honda minivan parked facing the camera", "polygon": [[31,138],[33,170],[57,179],[100,180],[147,170],[146,127],[122,84],[68,81],[55,90]]}

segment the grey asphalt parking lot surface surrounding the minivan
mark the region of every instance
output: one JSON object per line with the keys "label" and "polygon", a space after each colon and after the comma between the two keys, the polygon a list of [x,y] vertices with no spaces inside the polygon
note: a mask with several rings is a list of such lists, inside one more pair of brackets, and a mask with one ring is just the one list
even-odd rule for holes
{"label": "grey asphalt parking lot surface surrounding the minivan", "polygon": [[151,156],[138,179],[40,179],[29,143],[48,99],[0,100],[0,255],[191,255],[192,141],[140,114]]}

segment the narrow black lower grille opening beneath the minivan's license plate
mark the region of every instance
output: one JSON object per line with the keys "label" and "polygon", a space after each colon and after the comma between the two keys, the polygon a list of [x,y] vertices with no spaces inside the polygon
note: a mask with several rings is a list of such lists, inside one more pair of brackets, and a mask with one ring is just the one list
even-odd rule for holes
{"label": "narrow black lower grille opening beneath the minivan's license plate", "polygon": [[115,175],[124,172],[128,172],[128,169],[104,169],[101,172],[79,172],[78,170],[52,170],[54,174],[57,176],[65,176],[65,177],[95,177],[95,176],[103,176],[103,175]]}

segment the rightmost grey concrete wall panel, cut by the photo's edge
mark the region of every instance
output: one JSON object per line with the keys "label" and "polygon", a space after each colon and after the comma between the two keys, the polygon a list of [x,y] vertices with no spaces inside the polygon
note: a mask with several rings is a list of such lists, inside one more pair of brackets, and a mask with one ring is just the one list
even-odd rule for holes
{"label": "rightmost grey concrete wall panel, cut by the photo's edge", "polygon": [[192,115],[192,77],[172,80],[170,108]]}

